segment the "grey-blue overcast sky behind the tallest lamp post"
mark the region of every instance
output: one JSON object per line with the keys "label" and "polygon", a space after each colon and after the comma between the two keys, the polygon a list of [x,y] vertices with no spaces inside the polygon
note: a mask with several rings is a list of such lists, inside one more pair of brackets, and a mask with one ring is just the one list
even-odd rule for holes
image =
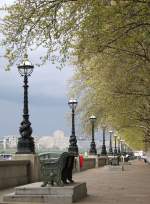
{"label": "grey-blue overcast sky behind the tallest lamp post", "polygon": [[[0,0],[0,6],[10,2]],[[32,56],[30,54],[33,63],[39,58],[40,52],[42,50],[35,51]],[[5,63],[5,59],[0,58],[0,136],[18,134],[23,110],[23,78],[18,74],[17,66],[5,71]],[[35,67],[29,78],[29,111],[33,135],[51,135],[55,130],[69,134],[70,127],[66,121],[69,112],[67,81],[71,76],[70,67],[61,71],[51,63]]]}

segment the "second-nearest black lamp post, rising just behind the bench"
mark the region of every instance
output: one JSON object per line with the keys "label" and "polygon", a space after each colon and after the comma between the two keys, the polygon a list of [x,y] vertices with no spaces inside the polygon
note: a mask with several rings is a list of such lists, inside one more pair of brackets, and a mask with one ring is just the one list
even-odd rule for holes
{"label": "second-nearest black lamp post, rising just behind the bench", "polygon": [[78,102],[76,99],[70,99],[68,101],[68,105],[72,110],[72,133],[69,139],[70,145],[69,145],[68,151],[72,152],[76,156],[78,156],[78,146],[77,146],[77,139],[75,135],[75,109],[77,107],[77,104]]}

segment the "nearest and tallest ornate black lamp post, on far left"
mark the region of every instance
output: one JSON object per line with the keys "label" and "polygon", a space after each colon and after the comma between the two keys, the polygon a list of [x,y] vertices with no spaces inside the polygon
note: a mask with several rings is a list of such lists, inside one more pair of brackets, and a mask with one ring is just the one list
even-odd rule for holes
{"label": "nearest and tallest ornate black lamp post, on far left", "polygon": [[21,137],[18,139],[17,154],[34,154],[34,138],[31,136],[32,128],[29,121],[28,113],[28,77],[33,72],[34,66],[28,61],[28,55],[24,56],[22,64],[18,66],[18,71],[24,77],[24,108],[23,108],[23,121],[19,128]]}

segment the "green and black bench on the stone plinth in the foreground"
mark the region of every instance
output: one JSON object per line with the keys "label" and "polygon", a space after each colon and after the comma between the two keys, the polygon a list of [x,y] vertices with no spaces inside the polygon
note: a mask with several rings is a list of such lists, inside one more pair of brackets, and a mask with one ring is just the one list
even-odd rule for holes
{"label": "green and black bench on the stone plinth in the foreground", "polygon": [[74,154],[63,152],[59,154],[46,153],[39,156],[41,164],[42,187],[47,184],[63,186],[72,183]]}

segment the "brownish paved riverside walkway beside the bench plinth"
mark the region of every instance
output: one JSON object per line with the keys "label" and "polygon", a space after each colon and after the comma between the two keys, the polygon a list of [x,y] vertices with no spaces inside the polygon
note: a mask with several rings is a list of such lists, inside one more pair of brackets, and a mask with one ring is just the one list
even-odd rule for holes
{"label": "brownish paved riverside walkway beside the bench plinth", "polygon": [[[150,165],[143,161],[125,165],[124,171],[105,166],[80,172],[74,180],[87,182],[88,196],[79,204],[150,204]],[[6,192],[0,191],[0,201]]]}

